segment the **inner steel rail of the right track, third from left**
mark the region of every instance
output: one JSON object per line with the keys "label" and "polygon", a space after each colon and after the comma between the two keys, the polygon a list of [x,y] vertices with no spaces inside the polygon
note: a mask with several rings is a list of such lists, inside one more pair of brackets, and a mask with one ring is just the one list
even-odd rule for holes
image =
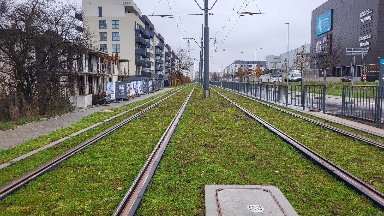
{"label": "inner steel rail of the right track, third from left", "polygon": [[[212,89],[212,88],[211,88]],[[212,89],[214,90],[214,89]],[[296,150],[298,150],[300,153],[305,155],[305,157],[312,161],[312,163],[320,166],[321,168],[328,171],[329,174],[336,177],[338,180],[342,181],[346,186],[353,188],[357,193],[362,194],[369,198],[372,202],[377,204],[381,209],[384,209],[384,194],[380,191],[377,191],[375,188],[370,186],[369,184],[365,183],[361,179],[357,178],[353,174],[349,173],[348,171],[344,170],[343,168],[339,167],[338,165],[334,164],[332,161],[328,160],[327,158],[319,155],[316,151],[313,151],[312,149],[308,148],[304,144],[300,143],[299,141],[295,140],[288,134],[284,133],[283,131],[279,130],[275,126],[271,125],[267,121],[263,120],[262,118],[258,117],[257,115],[253,114],[251,111],[243,108],[242,106],[238,105],[234,101],[230,100],[226,96],[222,95],[218,91],[214,90],[218,95],[225,98],[227,101],[232,103],[233,105],[237,106],[240,110],[247,113],[247,115],[251,116],[253,119],[261,123],[263,126],[267,128],[268,131],[275,133],[276,135],[280,136],[282,140],[284,140],[286,143],[293,146]]]}

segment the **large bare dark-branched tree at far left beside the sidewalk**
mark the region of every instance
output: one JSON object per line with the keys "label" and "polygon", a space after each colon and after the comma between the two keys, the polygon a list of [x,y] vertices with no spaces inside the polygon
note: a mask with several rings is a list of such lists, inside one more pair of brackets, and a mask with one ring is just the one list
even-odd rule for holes
{"label": "large bare dark-branched tree at far left beside the sidewalk", "polygon": [[38,115],[46,115],[54,106],[61,107],[60,86],[64,77],[76,72],[74,60],[91,34],[76,31],[74,3],[4,2],[0,0],[1,85],[17,94],[21,113],[33,105]]}

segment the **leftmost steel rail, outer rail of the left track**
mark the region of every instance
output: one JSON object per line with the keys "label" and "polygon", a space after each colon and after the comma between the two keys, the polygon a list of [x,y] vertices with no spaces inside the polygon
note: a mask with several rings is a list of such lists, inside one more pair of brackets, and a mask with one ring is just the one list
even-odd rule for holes
{"label": "leftmost steel rail, outer rail of the left track", "polygon": [[[193,85],[193,84],[191,84],[191,85]],[[120,121],[116,125],[113,125],[110,128],[98,133],[97,135],[95,135],[95,136],[89,138],[88,140],[80,143],[79,145],[74,146],[70,150],[65,151],[64,153],[56,156],[55,158],[51,159],[50,161],[47,161],[44,164],[36,167],[35,169],[28,171],[27,173],[23,174],[22,176],[19,176],[19,177],[13,179],[12,181],[8,182],[7,184],[4,184],[3,186],[0,187],[0,200],[4,199],[7,195],[14,193],[19,188],[21,188],[23,185],[25,185],[26,183],[35,180],[38,176],[41,176],[42,174],[47,173],[47,172],[55,169],[61,162],[70,158],[75,153],[83,150],[87,146],[100,140],[104,136],[108,135],[109,133],[111,133],[111,132],[115,131],[116,129],[120,128],[121,126],[125,125],[126,123],[133,120],[137,116],[142,115],[146,111],[150,110],[151,108],[158,105],[159,103],[167,100],[171,96],[179,93],[180,91],[184,90],[188,86],[190,86],[190,85],[187,85],[184,88],[181,88],[180,90],[176,91],[175,93],[172,93],[171,95],[167,96],[166,98],[163,98],[162,100],[157,101],[156,103],[148,106],[147,108],[144,108],[143,110],[135,113],[134,115],[126,118],[125,120]]]}

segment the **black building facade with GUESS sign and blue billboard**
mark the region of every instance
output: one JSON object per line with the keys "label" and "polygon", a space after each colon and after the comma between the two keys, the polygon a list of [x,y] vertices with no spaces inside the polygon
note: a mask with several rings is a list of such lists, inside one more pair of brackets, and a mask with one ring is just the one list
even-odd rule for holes
{"label": "black building facade with GUESS sign and blue billboard", "polygon": [[[329,17],[329,12],[332,13],[331,17]],[[330,28],[326,27],[328,24],[330,24]],[[316,45],[321,45],[324,37],[340,40],[343,50],[368,48],[365,65],[378,64],[379,58],[384,58],[384,1],[326,1],[312,11],[311,52],[316,50]],[[344,52],[342,57],[343,60],[335,66],[336,68],[326,72],[327,76],[351,75],[351,56]],[[368,80],[377,80],[379,70],[376,67],[379,65],[364,67],[361,66],[363,64],[362,56],[356,55],[355,76],[362,76],[367,70]],[[312,68],[314,67],[312,66]]]}

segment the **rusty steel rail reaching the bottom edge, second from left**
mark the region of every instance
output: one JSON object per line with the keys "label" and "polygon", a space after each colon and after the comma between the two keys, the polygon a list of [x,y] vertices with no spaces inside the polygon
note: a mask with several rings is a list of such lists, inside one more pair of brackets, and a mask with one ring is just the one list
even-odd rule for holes
{"label": "rusty steel rail reaching the bottom edge, second from left", "polygon": [[183,114],[183,111],[185,110],[185,106],[187,106],[189,98],[191,97],[195,89],[195,86],[193,87],[192,91],[189,93],[188,97],[185,99],[179,111],[177,111],[175,117],[169,124],[167,130],[164,132],[159,142],[155,146],[154,150],[152,151],[151,155],[148,157],[148,159],[142,166],[141,170],[139,171],[139,174],[136,176],[135,180],[132,182],[127,193],[121,199],[120,203],[116,207],[112,216],[133,216],[136,213],[137,208],[139,207],[139,204],[141,202],[142,196],[144,195],[144,192],[147,189],[147,186],[149,184],[149,181],[152,178],[152,175],[156,171],[156,167],[161,160],[161,157],[177,126],[177,123],[179,122],[179,119]]}

